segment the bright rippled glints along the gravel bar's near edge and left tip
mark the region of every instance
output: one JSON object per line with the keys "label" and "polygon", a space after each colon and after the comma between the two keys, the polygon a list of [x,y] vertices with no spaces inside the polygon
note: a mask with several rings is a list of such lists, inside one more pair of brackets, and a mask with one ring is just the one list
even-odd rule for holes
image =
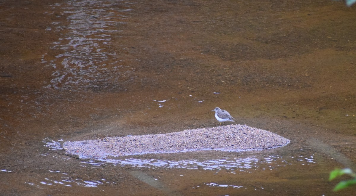
{"label": "bright rippled glints along the gravel bar's near edge and left tip", "polygon": [[[50,138],[43,140],[44,146],[50,151],[62,150],[58,141],[53,141]],[[80,161],[82,167],[91,166],[94,168],[102,168],[105,164],[112,164],[120,167],[143,167],[143,168],[178,168],[178,169],[203,169],[203,170],[231,170],[231,173],[237,172],[252,172],[254,169],[274,170],[279,167],[286,167],[292,163],[299,163],[301,165],[309,165],[315,163],[315,155],[310,152],[298,151],[297,156],[278,156],[271,154],[246,155],[244,153],[234,153],[231,156],[216,158],[201,158],[198,159],[183,159],[183,160],[169,160],[169,159],[141,159],[141,158],[98,158]],[[70,158],[68,158],[70,159]]]}

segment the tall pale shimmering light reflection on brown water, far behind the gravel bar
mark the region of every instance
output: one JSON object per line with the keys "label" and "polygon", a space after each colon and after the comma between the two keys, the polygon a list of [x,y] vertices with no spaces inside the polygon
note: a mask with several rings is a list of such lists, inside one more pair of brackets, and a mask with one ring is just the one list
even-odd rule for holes
{"label": "tall pale shimmering light reflection on brown water, far behind the gravel bar", "polygon": [[[61,8],[69,24],[54,21],[47,31],[59,32],[62,37],[53,42],[53,51],[62,51],[55,58],[42,55],[42,62],[54,68],[47,88],[73,91],[108,87],[120,77],[123,65],[117,59],[112,36],[125,24],[129,4],[116,1],[70,0],[53,5]],[[46,12],[53,15],[55,12]],[[57,17],[61,17],[57,15]],[[48,59],[48,60],[47,60]],[[126,70],[127,71],[127,70]],[[112,74],[116,73],[116,74]]]}

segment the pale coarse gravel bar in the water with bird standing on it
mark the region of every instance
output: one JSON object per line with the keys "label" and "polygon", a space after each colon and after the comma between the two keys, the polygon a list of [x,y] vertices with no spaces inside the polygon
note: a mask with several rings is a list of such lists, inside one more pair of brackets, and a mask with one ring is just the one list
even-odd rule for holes
{"label": "pale coarse gravel bar in the water with bird standing on it", "polygon": [[129,135],[64,142],[66,154],[79,158],[106,158],[149,153],[218,150],[263,150],[285,146],[290,140],[247,125],[226,125],[168,134]]}

